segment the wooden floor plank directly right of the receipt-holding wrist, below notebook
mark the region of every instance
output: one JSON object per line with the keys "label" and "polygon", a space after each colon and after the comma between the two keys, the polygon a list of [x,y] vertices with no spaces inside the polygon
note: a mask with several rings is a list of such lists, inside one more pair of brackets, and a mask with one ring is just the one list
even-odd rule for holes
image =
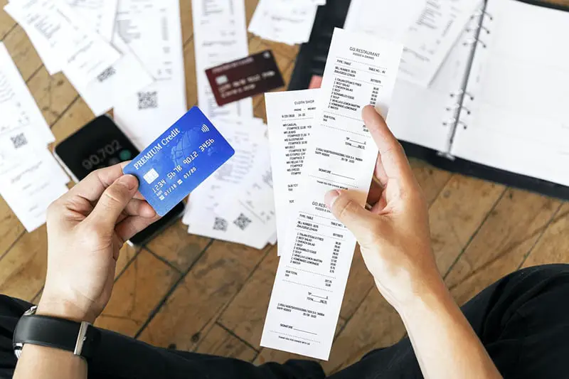
{"label": "wooden floor plank directly right of the receipt-holding wrist, below notebook", "polygon": [[437,266],[446,274],[504,193],[499,184],[453,175],[431,205],[431,245]]}

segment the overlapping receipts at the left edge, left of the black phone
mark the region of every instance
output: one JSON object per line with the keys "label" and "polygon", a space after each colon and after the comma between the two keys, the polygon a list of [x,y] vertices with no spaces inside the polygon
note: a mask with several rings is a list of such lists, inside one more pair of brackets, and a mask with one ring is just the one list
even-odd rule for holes
{"label": "overlapping receipts at the left edge, left of the black phone", "polygon": [[55,137],[3,43],[0,115],[0,196],[31,232],[46,222],[48,205],[69,179],[48,150]]}

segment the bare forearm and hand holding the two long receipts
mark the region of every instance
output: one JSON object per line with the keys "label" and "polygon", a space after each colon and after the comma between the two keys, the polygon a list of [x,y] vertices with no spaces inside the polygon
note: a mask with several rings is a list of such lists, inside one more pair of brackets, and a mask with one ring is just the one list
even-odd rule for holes
{"label": "bare forearm and hand holding the two long receipts", "polygon": [[430,247],[427,206],[403,148],[376,110],[363,120],[379,150],[366,210],[348,191],[326,205],[356,236],[383,297],[398,311],[425,378],[501,378],[452,299]]}

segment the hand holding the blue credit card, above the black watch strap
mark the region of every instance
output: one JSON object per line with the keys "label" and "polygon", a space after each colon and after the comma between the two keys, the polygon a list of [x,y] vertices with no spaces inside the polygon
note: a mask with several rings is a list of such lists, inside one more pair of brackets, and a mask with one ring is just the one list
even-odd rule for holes
{"label": "hand holding the blue credit card, above the black watch strap", "polygon": [[120,248],[158,219],[124,165],[92,172],[48,208],[48,274],[38,314],[94,322],[110,299]]}

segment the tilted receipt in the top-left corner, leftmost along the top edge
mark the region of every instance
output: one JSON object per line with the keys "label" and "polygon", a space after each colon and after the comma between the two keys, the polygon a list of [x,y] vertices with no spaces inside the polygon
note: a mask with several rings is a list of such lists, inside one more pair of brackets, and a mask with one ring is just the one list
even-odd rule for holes
{"label": "tilted receipt in the top-left corner, leftmost along the top edge", "polygon": [[120,58],[119,52],[85,26],[65,3],[11,1],[4,10],[33,36],[34,43],[50,47],[50,55],[58,56],[65,75],[78,85],[95,80]]}

